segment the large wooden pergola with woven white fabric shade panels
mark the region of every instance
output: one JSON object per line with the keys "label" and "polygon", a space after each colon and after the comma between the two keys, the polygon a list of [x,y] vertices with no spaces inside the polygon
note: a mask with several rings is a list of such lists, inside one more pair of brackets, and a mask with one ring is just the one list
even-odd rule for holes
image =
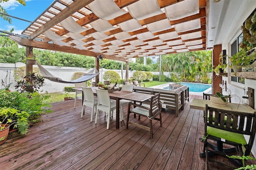
{"label": "large wooden pergola with woven white fabric shade panels", "polygon": [[[212,49],[208,0],[54,0],[22,34],[32,48],[126,62],[129,58]],[[210,46],[208,46],[208,43]],[[216,54],[220,54],[221,49]],[[217,56],[218,56],[217,55]],[[27,71],[32,65],[26,65]],[[98,82],[98,78],[96,78]],[[216,84],[219,84],[217,82]]]}

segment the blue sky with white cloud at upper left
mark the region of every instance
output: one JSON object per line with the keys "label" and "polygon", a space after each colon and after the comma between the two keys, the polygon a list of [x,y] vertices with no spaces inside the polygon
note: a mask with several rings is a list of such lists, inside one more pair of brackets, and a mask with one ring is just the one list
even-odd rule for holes
{"label": "blue sky with white cloud at upper left", "polygon": [[[8,2],[0,3],[0,5],[9,15],[33,22],[48,8],[48,6],[50,6],[50,4],[52,4],[52,2],[54,2],[54,0],[25,0],[25,2],[26,6],[23,6],[16,0],[9,0]],[[1,31],[10,31],[14,28],[13,33],[21,34],[21,32],[30,25],[30,22],[18,20],[16,18],[11,19],[12,24],[9,24],[8,21],[5,21],[0,17]]]}

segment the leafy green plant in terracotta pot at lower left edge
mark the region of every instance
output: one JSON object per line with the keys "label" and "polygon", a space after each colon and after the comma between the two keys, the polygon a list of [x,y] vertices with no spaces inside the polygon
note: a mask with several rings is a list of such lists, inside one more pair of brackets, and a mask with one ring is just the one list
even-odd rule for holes
{"label": "leafy green plant in terracotta pot at lower left edge", "polygon": [[[28,116],[27,112],[20,112],[20,110],[14,108],[0,108],[0,144],[6,141],[12,124],[14,124],[14,128],[18,127],[21,134],[26,134],[29,127]],[[20,124],[22,124],[22,127],[19,127]]]}

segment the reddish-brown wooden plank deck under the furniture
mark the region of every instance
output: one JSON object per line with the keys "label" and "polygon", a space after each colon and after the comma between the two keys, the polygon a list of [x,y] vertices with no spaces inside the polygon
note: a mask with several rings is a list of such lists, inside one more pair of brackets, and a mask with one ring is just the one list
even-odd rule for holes
{"label": "reddish-brown wooden plank deck under the furniture", "polygon": [[[126,129],[126,114],[119,129],[116,129],[114,116],[107,130],[104,113],[99,115],[98,124],[90,122],[88,107],[84,117],[80,117],[81,100],[76,109],[74,100],[54,103],[54,112],[42,115],[43,121],[30,127],[28,134],[9,134],[0,146],[0,169],[204,170],[205,158],[199,156],[203,142],[198,139],[204,132],[203,112],[189,108],[193,98],[202,96],[190,95],[179,117],[174,110],[162,111],[162,127],[158,121],[153,121],[153,139],[146,130],[134,126]],[[148,124],[145,120],[140,121]],[[216,159],[230,164],[221,157]],[[246,163],[256,164],[256,161]],[[210,168],[226,169],[213,164]]]}

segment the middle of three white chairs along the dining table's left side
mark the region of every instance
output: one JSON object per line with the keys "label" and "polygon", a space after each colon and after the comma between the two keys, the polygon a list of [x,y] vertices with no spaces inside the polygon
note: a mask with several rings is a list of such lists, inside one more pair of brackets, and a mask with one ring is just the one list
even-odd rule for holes
{"label": "middle of three white chairs along the dining table's left side", "polygon": [[94,97],[92,88],[82,86],[82,89],[84,93],[84,102],[82,107],[81,118],[84,116],[84,106],[91,107],[92,108],[91,122],[92,122],[94,107],[96,107],[95,109],[97,110],[98,99]]}

